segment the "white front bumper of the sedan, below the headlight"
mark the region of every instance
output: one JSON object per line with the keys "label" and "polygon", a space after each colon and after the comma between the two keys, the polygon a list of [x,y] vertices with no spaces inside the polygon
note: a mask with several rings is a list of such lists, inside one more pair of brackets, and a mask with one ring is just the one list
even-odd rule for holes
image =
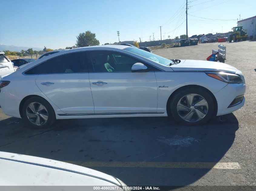
{"label": "white front bumper of the sedan, below the headlight", "polygon": [[218,103],[217,116],[232,113],[238,110],[239,108],[243,107],[245,102],[245,97],[243,97],[243,100],[240,103],[235,104],[232,107],[230,107],[230,105],[237,96],[244,95],[245,90],[246,90],[246,85],[244,83],[228,84],[224,88],[222,88],[220,91],[215,93],[214,96]]}

